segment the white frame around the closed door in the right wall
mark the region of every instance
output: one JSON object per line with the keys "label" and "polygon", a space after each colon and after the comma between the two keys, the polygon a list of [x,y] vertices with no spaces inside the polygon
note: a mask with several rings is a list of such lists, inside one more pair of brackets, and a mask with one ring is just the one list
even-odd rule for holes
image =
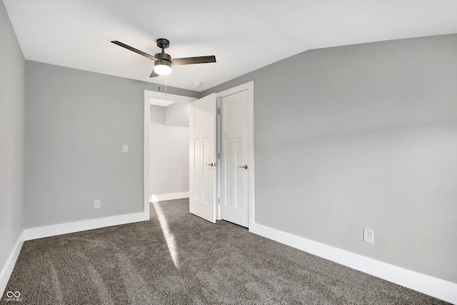
{"label": "white frame around the closed door in the right wall", "polygon": [[[248,228],[254,223],[254,82],[248,81],[245,84],[241,84],[239,86],[235,86],[231,89],[227,89],[221,91],[216,94],[217,99],[217,107],[221,109],[220,100],[225,96],[230,96],[232,94],[236,94],[241,91],[248,91],[248,149],[249,149],[249,157],[248,157]],[[221,110],[220,110],[221,111]],[[220,117],[218,116],[218,126],[220,126]],[[217,152],[218,155],[221,153],[221,129],[218,128],[217,132]],[[218,163],[221,164],[221,160],[218,159]],[[221,177],[219,176],[221,171],[218,171],[218,198],[221,195]],[[216,219],[221,220],[221,209],[220,204],[216,204]]]}

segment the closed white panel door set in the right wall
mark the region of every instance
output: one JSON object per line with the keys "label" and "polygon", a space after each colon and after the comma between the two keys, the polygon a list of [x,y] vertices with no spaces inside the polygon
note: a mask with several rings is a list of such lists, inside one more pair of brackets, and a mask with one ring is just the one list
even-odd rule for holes
{"label": "closed white panel door set in the right wall", "polygon": [[221,219],[248,227],[248,90],[221,96]]}

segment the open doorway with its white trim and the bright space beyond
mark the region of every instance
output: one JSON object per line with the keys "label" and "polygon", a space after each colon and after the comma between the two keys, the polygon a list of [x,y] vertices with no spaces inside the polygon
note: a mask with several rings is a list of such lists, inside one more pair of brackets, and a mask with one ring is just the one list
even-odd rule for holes
{"label": "open doorway with its white trim and the bright space beyond", "polygon": [[[183,158],[187,156],[189,160],[189,149],[181,147],[179,141],[189,143],[188,108],[194,100],[196,98],[190,96],[144,91],[144,213],[147,215],[151,201],[189,196],[189,175],[187,171],[179,173],[179,166],[186,164]],[[174,141],[167,141],[167,136]],[[184,150],[176,151],[180,147]],[[181,160],[181,164],[174,162],[176,158]],[[174,180],[176,173],[179,176]]]}

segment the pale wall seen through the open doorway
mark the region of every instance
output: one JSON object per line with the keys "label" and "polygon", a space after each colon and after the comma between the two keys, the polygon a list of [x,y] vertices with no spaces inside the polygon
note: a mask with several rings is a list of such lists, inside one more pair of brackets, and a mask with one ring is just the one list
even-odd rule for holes
{"label": "pale wall seen through the open doorway", "polygon": [[149,193],[189,191],[189,104],[151,106],[149,128]]}

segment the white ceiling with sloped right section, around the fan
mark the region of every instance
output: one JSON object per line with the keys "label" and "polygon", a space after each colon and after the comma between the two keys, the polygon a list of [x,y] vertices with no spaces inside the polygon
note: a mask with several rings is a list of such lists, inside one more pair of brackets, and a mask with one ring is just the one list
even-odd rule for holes
{"label": "white ceiling with sloped right section, around the fan", "polygon": [[3,1],[26,59],[159,83],[154,61],[110,41],[154,55],[166,38],[174,58],[216,55],[166,79],[194,91],[308,49],[457,33],[456,0]]}

